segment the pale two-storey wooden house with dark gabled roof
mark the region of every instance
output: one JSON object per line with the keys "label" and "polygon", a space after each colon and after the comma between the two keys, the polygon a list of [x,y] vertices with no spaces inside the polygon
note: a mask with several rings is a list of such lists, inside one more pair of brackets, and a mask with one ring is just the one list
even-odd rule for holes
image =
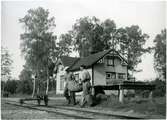
{"label": "pale two-storey wooden house with dark gabled roof", "polygon": [[[74,73],[75,79],[79,80],[81,65],[85,65],[90,73],[92,85],[113,85],[127,80],[127,61],[113,49],[91,54],[84,58],[62,56],[57,65],[57,94],[63,94],[65,69],[69,67],[69,70]],[[111,91],[105,92],[110,94]]]}

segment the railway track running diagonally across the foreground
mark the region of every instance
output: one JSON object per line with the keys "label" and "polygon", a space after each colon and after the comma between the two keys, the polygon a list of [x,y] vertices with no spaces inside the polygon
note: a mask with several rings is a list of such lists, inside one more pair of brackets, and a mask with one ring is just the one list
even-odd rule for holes
{"label": "railway track running diagonally across the foreground", "polygon": [[102,113],[92,110],[85,110],[81,108],[72,108],[72,107],[69,108],[63,106],[38,106],[29,103],[24,103],[23,105],[20,105],[20,103],[16,101],[8,101],[6,102],[6,104],[33,110],[45,111],[48,113],[55,113],[74,119],[143,119],[142,117],[116,115],[116,114]]}

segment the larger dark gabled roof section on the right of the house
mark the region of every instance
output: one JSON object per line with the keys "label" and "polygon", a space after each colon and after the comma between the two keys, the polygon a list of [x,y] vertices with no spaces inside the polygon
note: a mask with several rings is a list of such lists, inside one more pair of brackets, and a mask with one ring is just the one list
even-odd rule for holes
{"label": "larger dark gabled roof section on the right of the house", "polygon": [[110,51],[116,52],[125,62],[127,62],[117,51],[115,51],[113,49],[109,49],[109,50],[105,50],[102,52],[92,54],[88,57],[78,59],[77,61],[75,61],[75,63],[73,65],[70,66],[69,70],[70,71],[78,70],[81,65],[85,65],[86,67],[90,67],[93,64],[95,64],[98,60],[103,58]]}

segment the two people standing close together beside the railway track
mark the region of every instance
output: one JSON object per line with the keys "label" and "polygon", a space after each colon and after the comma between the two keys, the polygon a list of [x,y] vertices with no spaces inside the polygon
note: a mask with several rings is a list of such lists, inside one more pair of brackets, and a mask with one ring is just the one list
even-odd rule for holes
{"label": "two people standing close together beside the railway track", "polygon": [[79,81],[76,81],[73,73],[66,69],[64,96],[66,97],[68,104],[76,104],[75,92],[83,91],[80,102],[81,107],[88,102],[88,99],[91,96],[91,76],[85,68],[85,65],[80,66],[81,73]]}

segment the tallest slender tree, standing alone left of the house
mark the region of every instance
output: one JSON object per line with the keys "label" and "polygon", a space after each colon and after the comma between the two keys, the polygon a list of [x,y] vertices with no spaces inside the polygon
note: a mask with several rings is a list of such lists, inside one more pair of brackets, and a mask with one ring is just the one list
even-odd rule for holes
{"label": "tallest slender tree, standing alone left of the house", "polygon": [[[47,80],[47,94],[49,86],[48,66],[52,62],[53,55],[57,52],[56,36],[52,32],[56,26],[55,18],[49,18],[49,11],[39,7],[28,10],[27,15],[19,21],[25,29],[25,33],[20,36],[22,54],[27,65],[37,76],[39,83]],[[41,77],[42,74],[45,76]]]}

